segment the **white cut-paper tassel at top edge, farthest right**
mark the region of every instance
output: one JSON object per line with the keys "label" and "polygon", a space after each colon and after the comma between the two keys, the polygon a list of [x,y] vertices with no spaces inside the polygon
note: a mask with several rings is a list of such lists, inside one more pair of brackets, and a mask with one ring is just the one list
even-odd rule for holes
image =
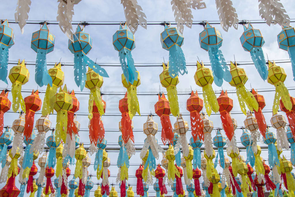
{"label": "white cut-paper tassel at top edge, farthest right", "polygon": [[258,0],[259,14],[267,25],[279,24],[289,26],[290,17],[279,0]]}

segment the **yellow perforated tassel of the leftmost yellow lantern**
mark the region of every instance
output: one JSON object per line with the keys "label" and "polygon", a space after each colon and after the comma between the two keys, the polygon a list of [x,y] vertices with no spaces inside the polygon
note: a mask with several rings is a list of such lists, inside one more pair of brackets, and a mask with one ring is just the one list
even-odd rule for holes
{"label": "yellow perforated tassel of the leftmost yellow lantern", "polygon": [[17,112],[17,110],[19,110],[19,105],[21,107],[21,109],[23,111],[26,111],[26,107],[24,104],[24,99],[22,97],[22,84],[19,82],[14,82],[14,84],[12,84],[12,110],[14,113]]}

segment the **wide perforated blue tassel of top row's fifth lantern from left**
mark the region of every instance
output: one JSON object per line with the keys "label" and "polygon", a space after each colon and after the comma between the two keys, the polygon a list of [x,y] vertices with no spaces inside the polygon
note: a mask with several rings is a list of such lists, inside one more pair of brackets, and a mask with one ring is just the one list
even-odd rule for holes
{"label": "wide perforated blue tassel of top row's fifth lantern from left", "polygon": [[183,51],[180,46],[174,44],[169,48],[169,75],[174,78],[181,75],[187,74],[186,60]]}

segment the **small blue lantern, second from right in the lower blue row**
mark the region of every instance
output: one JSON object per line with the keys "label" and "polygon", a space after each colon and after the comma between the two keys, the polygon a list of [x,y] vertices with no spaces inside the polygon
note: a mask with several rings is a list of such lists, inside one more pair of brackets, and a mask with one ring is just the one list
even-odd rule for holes
{"label": "small blue lantern, second from right in the lower blue row", "polygon": [[263,137],[264,144],[268,145],[268,165],[273,168],[274,165],[280,165],[278,154],[276,152],[276,136],[273,132],[267,129],[265,138]]}

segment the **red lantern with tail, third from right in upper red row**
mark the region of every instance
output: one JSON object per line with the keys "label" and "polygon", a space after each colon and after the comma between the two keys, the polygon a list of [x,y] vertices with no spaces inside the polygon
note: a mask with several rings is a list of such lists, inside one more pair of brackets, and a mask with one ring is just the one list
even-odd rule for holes
{"label": "red lantern with tail, third from right in upper red row", "polygon": [[232,124],[232,118],[230,116],[230,111],[233,107],[233,102],[230,97],[227,96],[227,91],[225,93],[221,91],[220,96],[217,98],[219,105],[220,118],[222,122],[222,127],[225,131],[225,134],[229,140],[232,140],[234,135],[234,126]]}

